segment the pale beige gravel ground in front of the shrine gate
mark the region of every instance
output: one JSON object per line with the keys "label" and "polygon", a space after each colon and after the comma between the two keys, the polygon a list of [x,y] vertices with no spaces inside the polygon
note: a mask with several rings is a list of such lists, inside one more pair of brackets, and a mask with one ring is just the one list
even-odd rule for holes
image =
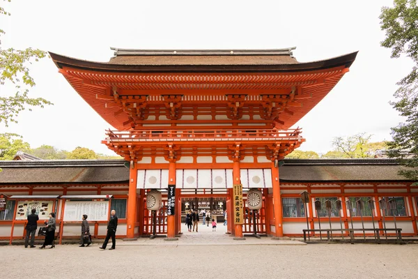
{"label": "pale beige gravel ground in front of the shrine gate", "polygon": [[0,246],[1,273],[7,278],[417,278],[418,245],[98,247]]}

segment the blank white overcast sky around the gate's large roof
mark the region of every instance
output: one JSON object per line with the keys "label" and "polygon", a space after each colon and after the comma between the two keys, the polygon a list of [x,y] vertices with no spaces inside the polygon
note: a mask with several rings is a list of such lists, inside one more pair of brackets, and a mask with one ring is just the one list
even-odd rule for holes
{"label": "blank white overcast sky around the gate's large roof", "polygon": [[[35,47],[91,61],[109,61],[109,47],[137,49],[266,49],[293,47],[298,61],[316,61],[359,50],[356,61],[325,99],[296,126],[301,150],[332,149],[332,138],[367,132],[390,140],[401,118],[389,105],[396,82],[409,73],[408,59],[390,59],[380,47],[380,8],[392,0],[306,1],[1,1],[12,16],[0,18],[1,47]],[[50,144],[71,151],[100,144],[105,122],[72,89],[51,59],[31,66],[31,96],[54,106],[24,112],[18,133],[32,147]],[[6,95],[8,87],[0,87]],[[10,93],[10,92],[9,92]]]}

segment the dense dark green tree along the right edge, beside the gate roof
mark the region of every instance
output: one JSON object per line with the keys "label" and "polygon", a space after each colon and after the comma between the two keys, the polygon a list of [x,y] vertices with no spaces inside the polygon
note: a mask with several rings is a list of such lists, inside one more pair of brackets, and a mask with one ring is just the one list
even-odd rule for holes
{"label": "dense dark green tree along the right edge, beside the gate roof", "polygon": [[[417,0],[395,0],[394,6],[383,7],[380,28],[386,38],[380,44],[392,50],[392,58],[405,55],[414,66],[398,82],[391,105],[405,117],[403,123],[392,128],[392,142],[388,142],[389,158],[397,158],[407,169],[399,174],[418,180],[418,6]],[[405,156],[408,154],[408,159]]]}

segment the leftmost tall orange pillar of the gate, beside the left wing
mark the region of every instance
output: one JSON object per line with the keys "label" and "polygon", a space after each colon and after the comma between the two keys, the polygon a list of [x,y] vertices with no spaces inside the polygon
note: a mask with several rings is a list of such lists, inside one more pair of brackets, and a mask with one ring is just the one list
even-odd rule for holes
{"label": "leftmost tall orange pillar of the gate, beside the left wing", "polygon": [[135,222],[137,220],[137,164],[131,161],[129,172],[129,192],[127,195],[126,238],[134,239]]}

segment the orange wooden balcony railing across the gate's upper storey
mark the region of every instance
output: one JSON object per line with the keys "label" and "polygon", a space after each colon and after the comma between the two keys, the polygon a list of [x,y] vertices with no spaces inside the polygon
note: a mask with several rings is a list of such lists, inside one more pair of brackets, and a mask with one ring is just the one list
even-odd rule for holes
{"label": "orange wooden balcony railing across the gate's upper storey", "polygon": [[108,142],[204,141],[204,140],[288,140],[303,142],[301,129],[199,129],[199,130],[107,130]]}

